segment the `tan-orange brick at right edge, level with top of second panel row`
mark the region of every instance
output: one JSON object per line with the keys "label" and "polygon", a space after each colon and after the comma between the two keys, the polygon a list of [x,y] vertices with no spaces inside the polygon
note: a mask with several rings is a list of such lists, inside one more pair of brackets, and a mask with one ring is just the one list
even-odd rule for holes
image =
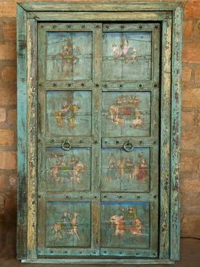
{"label": "tan-orange brick at right edge, level with top of second panel row", "polygon": [[200,89],[183,89],[182,106],[200,109]]}

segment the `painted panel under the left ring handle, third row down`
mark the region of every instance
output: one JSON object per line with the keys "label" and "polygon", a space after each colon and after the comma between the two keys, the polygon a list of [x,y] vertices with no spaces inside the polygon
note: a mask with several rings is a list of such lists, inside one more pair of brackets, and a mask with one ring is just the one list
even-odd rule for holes
{"label": "painted panel under the left ring handle, third row down", "polygon": [[46,148],[46,190],[90,191],[91,149]]}

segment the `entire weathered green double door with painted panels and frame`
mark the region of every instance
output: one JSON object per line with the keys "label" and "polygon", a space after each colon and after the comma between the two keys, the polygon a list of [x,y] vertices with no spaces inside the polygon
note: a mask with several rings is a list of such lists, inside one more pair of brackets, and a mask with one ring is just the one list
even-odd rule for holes
{"label": "entire weathered green double door with painted panels and frame", "polygon": [[[18,121],[28,127],[27,132],[18,129],[18,156],[23,161],[19,160],[19,177],[27,179],[22,185],[24,178],[19,178],[18,203],[27,203],[28,215],[26,206],[19,204],[18,233],[21,236],[25,226],[27,237],[19,238],[18,258],[46,263],[173,263],[179,258],[179,4],[103,1],[19,6],[28,18],[28,41],[26,24],[23,28],[18,20],[19,44],[27,44],[28,66],[21,74],[26,54],[19,53],[18,99],[25,105],[22,114],[18,111]],[[114,9],[117,12],[112,13]],[[59,17],[55,11],[61,11]],[[126,108],[117,96],[123,101],[127,97]],[[134,109],[133,96],[138,101]],[[132,143],[131,152],[124,151],[125,143],[125,148]],[[65,145],[71,146],[69,151],[63,150]],[[115,162],[107,151],[115,154]],[[113,183],[107,186],[105,174],[111,163],[117,167],[109,173]],[[130,174],[131,169],[135,173]],[[27,201],[20,193],[23,188]]]}

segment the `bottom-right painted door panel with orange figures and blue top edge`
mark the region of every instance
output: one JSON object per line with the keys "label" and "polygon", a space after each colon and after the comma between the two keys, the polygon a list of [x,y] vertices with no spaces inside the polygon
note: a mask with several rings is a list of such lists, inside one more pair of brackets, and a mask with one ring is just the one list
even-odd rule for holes
{"label": "bottom-right painted door panel with orange figures and blue top edge", "polygon": [[102,201],[103,248],[149,248],[149,202]]}

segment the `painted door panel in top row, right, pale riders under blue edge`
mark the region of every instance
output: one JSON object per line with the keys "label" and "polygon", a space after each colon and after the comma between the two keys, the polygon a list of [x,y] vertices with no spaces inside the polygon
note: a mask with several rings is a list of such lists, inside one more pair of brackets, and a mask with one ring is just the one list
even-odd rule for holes
{"label": "painted door panel in top row, right, pale riders under blue edge", "polygon": [[103,34],[102,80],[150,80],[151,32],[109,32]]}

